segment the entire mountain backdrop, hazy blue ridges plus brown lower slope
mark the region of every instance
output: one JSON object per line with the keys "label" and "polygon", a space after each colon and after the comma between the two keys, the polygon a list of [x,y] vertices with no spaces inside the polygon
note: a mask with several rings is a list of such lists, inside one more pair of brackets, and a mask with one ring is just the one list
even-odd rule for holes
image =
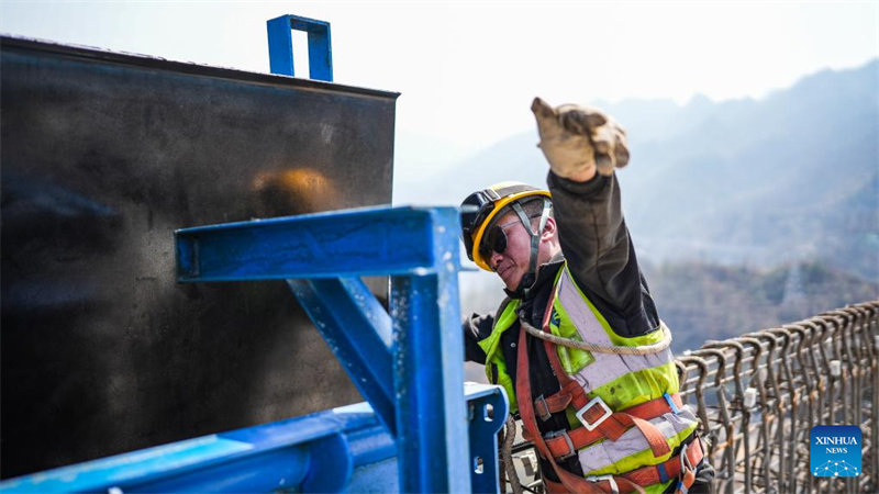
{"label": "entire mountain backdrop, hazy blue ridges plus brown lower slope", "polygon": [[[623,209],[675,351],[879,297],[879,59],[758,100],[589,103],[627,131]],[[394,203],[543,184],[536,143],[536,128],[511,135],[398,183]],[[436,161],[442,147],[432,149]],[[496,278],[461,273],[463,312],[497,307]]]}

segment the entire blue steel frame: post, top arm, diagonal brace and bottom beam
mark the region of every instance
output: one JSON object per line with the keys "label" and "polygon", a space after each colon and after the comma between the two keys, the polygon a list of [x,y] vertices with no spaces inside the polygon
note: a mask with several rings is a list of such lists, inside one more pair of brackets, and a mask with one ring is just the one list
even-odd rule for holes
{"label": "entire blue steel frame: post, top arm, diagonal brace and bottom beam", "polygon": [[[457,232],[453,207],[363,209],[176,232],[180,282],[288,280],[371,406],[12,479],[0,493],[498,493],[497,434],[509,405],[498,386],[469,385],[467,403],[461,393]],[[383,274],[391,276],[390,314],[358,278]]]}

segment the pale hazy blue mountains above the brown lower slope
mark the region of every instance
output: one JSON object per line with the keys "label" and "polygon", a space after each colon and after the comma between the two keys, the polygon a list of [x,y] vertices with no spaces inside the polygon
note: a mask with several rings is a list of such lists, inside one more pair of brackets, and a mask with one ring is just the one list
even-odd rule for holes
{"label": "pale hazy blue mountains above the brown lower slope", "polygon": [[[879,282],[878,79],[874,60],[757,101],[598,102],[628,131],[632,164],[619,177],[641,256],[820,261]],[[536,131],[498,142],[394,202],[456,204],[500,180],[545,183],[536,142]]]}

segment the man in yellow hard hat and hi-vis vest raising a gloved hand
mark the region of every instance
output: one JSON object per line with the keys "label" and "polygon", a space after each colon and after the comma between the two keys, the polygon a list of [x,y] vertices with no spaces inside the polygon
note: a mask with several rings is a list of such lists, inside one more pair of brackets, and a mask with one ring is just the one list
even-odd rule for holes
{"label": "man in yellow hard hat and hi-vis vest raising a gloved hand", "polygon": [[620,206],[625,132],[585,106],[537,98],[532,111],[549,190],[503,182],[461,204],[468,257],[508,295],[465,322],[467,359],[507,391],[547,492],[709,492],[698,419]]}

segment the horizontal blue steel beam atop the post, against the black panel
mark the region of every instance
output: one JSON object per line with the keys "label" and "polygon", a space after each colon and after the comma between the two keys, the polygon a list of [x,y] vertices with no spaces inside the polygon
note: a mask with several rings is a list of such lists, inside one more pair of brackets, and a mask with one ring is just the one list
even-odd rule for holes
{"label": "horizontal blue steel beam atop the post, against the black panel", "polygon": [[[447,269],[433,244],[439,235],[457,240],[457,233],[432,229],[434,212],[442,210],[369,207],[180,229],[177,279],[354,278]],[[457,257],[450,259],[457,265]]]}

